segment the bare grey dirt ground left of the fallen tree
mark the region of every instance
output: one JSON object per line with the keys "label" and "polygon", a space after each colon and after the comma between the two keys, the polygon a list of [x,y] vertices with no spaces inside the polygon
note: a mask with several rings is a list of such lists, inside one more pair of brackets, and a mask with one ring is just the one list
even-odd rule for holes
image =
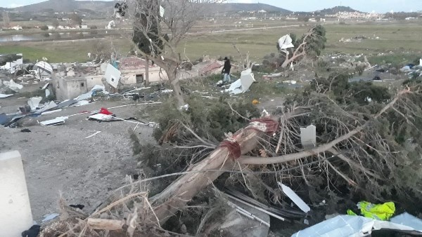
{"label": "bare grey dirt ground left of the fallen tree", "polygon": [[[18,95],[0,99],[0,113],[15,112],[18,107],[27,104],[27,100],[18,98]],[[29,128],[31,133],[20,132],[23,128],[0,126],[0,151],[18,150],[22,155],[35,221],[39,222],[43,215],[58,212],[60,192],[68,204],[85,205],[84,210],[91,212],[107,198],[110,190],[124,184],[126,175],[140,171],[136,169],[129,140],[129,130],[134,130],[135,123],[98,123],[88,121],[88,114],[70,116],[60,126],[41,126],[37,121],[123,104],[133,104],[133,101],[96,101],[32,118],[34,125],[24,127]],[[128,118],[158,106],[136,105],[110,111],[117,117]],[[97,131],[101,133],[85,138]],[[148,126],[136,127],[136,133],[143,142],[153,142],[152,132],[153,128]]]}

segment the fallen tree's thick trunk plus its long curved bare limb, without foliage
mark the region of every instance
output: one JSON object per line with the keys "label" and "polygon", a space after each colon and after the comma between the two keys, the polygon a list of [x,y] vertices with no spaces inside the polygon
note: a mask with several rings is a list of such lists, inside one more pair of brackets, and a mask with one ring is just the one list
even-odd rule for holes
{"label": "fallen tree's thick trunk plus its long curved bare limb, without foliage", "polygon": [[[301,151],[298,153],[286,154],[284,156],[276,156],[271,158],[242,156],[237,160],[231,160],[230,158],[236,159],[236,156],[234,157],[233,154],[230,154],[229,149],[226,147],[219,147],[203,161],[200,161],[200,163],[192,165],[190,168],[188,168],[188,171],[201,170],[203,172],[194,172],[193,174],[183,175],[164,191],[162,191],[162,193],[151,198],[153,204],[155,204],[155,215],[157,215],[158,219],[160,219],[161,224],[165,222],[169,217],[174,215],[175,212],[184,208],[186,203],[188,203],[188,201],[190,201],[191,198],[193,198],[193,196],[198,193],[198,191],[204,189],[210,182],[213,182],[215,179],[217,179],[217,177],[225,170],[235,168],[234,162],[239,162],[243,165],[269,165],[297,161],[301,158],[307,158],[309,156],[319,157],[321,154],[328,151],[331,151],[335,154],[335,150],[338,149],[338,144],[345,142],[346,140],[350,140],[350,138],[353,136],[362,133],[362,131],[370,126],[373,121],[381,118],[381,116],[385,114],[386,111],[389,109],[394,109],[394,105],[397,103],[397,101],[408,93],[411,93],[409,89],[402,90],[389,104],[378,111],[378,113],[373,116],[371,120],[366,121],[366,123],[364,123],[362,126],[358,126],[356,129],[351,130],[349,133],[309,151]],[[289,119],[291,117],[291,114],[288,114],[283,116],[283,119]],[[238,145],[241,147],[241,154],[245,154],[255,148],[258,143],[258,138],[262,135],[263,133],[258,132],[257,130],[240,130],[230,139],[231,141],[238,143]],[[336,168],[332,168],[336,172],[339,172]],[[219,169],[222,171],[207,171]],[[341,173],[339,172],[339,174]],[[342,176],[345,178],[345,175]],[[347,181],[350,182],[349,179],[347,179]]]}

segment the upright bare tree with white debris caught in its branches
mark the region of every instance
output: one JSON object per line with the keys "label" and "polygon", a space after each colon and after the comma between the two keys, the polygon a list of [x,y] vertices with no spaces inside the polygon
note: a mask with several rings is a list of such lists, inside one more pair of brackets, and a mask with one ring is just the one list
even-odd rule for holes
{"label": "upright bare tree with white debris caught in its branches", "polygon": [[184,105],[178,68],[179,43],[210,4],[222,0],[130,0],[127,18],[133,25],[133,43],[140,54],[167,72],[179,106]]}

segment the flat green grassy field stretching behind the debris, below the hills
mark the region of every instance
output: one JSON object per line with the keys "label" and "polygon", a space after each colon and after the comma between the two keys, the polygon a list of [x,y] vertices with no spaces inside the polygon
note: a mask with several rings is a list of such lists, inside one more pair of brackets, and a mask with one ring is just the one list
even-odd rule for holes
{"label": "flat green grassy field stretching behind the debris, below the hills", "polygon": [[[234,21],[234,20],[233,20]],[[248,22],[244,22],[248,23]],[[295,22],[298,23],[298,22]],[[373,63],[409,62],[421,55],[422,25],[419,22],[390,22],[390,23],[354,23],[347,25],[327,24],[327,43],[324,53],[351,53],[365,54]],[[243,54],[249,53],[250,58],[261,62],[262,57],[276,52],[276,41],[284,34],[295,33],[298,36],[307,32],[312,25],[288,26],[292,22],[280,24],[275,21],[255,22],[254,27],[274,27],[287,25],[283,28],[250,29],[245,31],[207,32],[189,34],[180,44],[179,52],[182,57],[196,60],[203,55],[211,57],[232,55],[235,60],[241,57],[233,44]],[[201,22],[196,30],[206,28],[207,23]],[[209,31],[234,28],[234,22],[210,23]],[[340,39],[365,36],[361,42],[339,42]],[[378,39],[376,39],[378,37]],[[110,45],[110,39],[83,40],[83,41],[56,41],[56,42],[15,42],[0,43],[1,53],[23,53],[24,58],[31,61],[41,57],[49,58],[50,62],[84,62],[88,60],[87,53],[92,52],[95,44],[103,41]],[[113,46],[118,53],[124,55],[129,51],[130,43],[125,39],[115,37]],[[186,54],[184,53],[186,51]],[[185,57],[186,55],[186,57]]]}

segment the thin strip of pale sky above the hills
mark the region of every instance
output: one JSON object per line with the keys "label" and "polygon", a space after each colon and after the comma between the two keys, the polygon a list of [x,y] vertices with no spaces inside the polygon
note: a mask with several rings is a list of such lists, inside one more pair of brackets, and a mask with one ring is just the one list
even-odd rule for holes
{"label": "thin strip of pale sky above the hills", "polygon": [[[1,7],[36,4],[45,0],[0,0]],[[107,1],[107,0],[106,0]],[[390,11],[422,11],[421,0],[228,0],[240,3],[262,3],[279,6],[290,11],[317,11],[333,6],[350,6],[358,11],[387,13]]]}

